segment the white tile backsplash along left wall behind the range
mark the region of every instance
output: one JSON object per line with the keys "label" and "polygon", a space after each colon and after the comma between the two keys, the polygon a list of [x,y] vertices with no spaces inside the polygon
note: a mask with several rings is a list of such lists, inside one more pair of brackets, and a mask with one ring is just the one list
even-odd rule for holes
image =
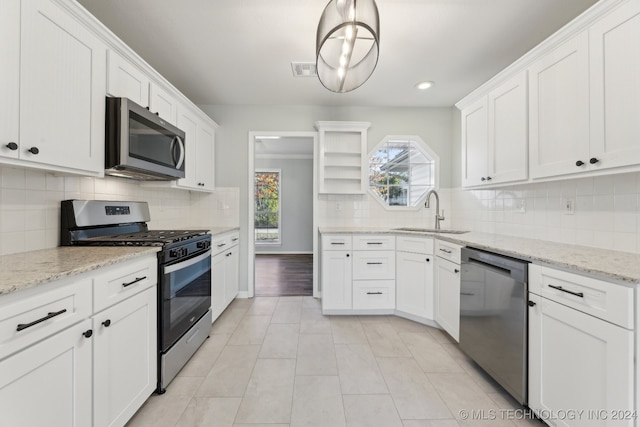
{"label": "white tile backsplash along left wall behind the range", "polygon": [[146,187],[123,178],[58,176],[0,166],[0,255],[58,246],[60,201],[139,200],[149,203],[149,228],[238,226],[238,190],[197,193]]}

